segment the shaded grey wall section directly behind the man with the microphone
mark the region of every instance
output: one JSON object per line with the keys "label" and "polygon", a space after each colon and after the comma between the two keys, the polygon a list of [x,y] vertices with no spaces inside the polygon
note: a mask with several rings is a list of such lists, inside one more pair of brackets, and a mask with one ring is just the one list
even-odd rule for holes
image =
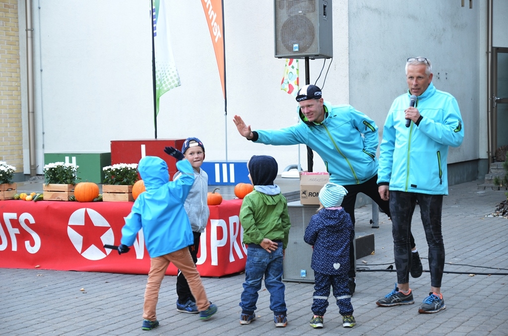
{"label": "shaded grey wall section directly behind the man with the microphone", "polygon": [[393,99],[407,91],[408,57],[432,62],[433,83],[459,103],[465,137],[449,163],[478,158],[479,6],[428,0],[350,0],[351,104],[382,126]]}

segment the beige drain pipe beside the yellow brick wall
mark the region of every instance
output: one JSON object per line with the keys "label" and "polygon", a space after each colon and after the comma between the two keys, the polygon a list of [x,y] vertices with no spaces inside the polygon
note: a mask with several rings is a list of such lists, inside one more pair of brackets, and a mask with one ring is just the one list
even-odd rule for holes
{"label": "beige drain pipe beside the yellow brick wall", "polygon": [[34,38],[32,27],[31,0],[25,0],[26,14],[26,77],[28,93],[28,153],[30,156],[30,177],[37,175],[35,158],[35,109],[34,109]]}

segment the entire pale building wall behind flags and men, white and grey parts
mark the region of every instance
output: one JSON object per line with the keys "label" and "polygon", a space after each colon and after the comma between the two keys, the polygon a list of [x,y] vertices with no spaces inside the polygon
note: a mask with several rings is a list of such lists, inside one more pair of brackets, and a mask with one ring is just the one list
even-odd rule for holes
{"label": "entire pale building wall behind flags and men, white and grey parts", "polygon": [[[224,0],[227,118],[201,2],[166,2],[182,85],[161,98],[157,138],[199,137],[210,161],[225,159],[227,147],[230,160],[272,155],[279,172],[296,164],[297,146],[253,144],[238,135],[232,122],[235,114],[253,129],[297,122],[294,98],[280,90],[284,59],[273,57],[273,0],[255,5]],[[24,1],[18,4],[23,67]],[[428,57],[434,84],[457,97],[464,118],[466,139],[451,151],[450,162],[478,158],[479,78],[485,75],[478,65],[480,15],[485,15],[480,12],[480,6],[461,8],[458,1],[334,0],[334,58],[325,99],[352,104],[382,129],[391,102],[406,89],[405,59]],[[150,1],[34,0],[33,16],[38,174],[44,152],[109,152],[111,140],[153,139]],[[329,63],[317,85],[323,86]],[[323,60],[310,60],[311,83],[322,65]],[[23,88],[25,74],[22,68]],[[300,79],[304,83],[303,61]],[[25,98],[22,104],[26,111]],[[27,141],[23,147],[28,174]],[[305,146],[300,152],[306,169]],[[317,155],[314,170],[324,170]]]}

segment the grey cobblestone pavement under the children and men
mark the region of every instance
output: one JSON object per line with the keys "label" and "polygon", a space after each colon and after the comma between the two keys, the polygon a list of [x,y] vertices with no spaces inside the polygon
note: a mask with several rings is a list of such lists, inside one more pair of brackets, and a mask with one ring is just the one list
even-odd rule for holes
{"label": "grey cobblestone pavement under the children and men", "polygon": [[[377,307],[396,281],[391,225],[379,214],[379,228],[371,228],[370,205],[357,209],[357,231],[374,233],[375,254],[357,260],[360,270],[352,302],[357,325],[343,328],[337,306],[330,299],[323,329],[313,329],[313,284],[285,282],[288,326],[275,328],[269,295],[263,286],[258,319],[239,324],[243,274],[203,278],[218,313],[200,321],[194,314],[176,312],[176,278],[163,281],[157,306],[160,326],[141,330],[146,275],[0,269],[0,334],[2,335],[506,335],[508,334],[508,220],[489,217],[505,198],[504,192],[478,190],[480,181],[451,186],[444,197],[442,227],[446,266],[441,290],[446,310],[419,314],[428,295],[430,274],[410,283],[415,304]],[[427,245],[419,211],[412,232],[422,257]],[[2,233],[2,232],[0,232]],[[0,242],[5,236],[0,235]],[[0,244],[0,249],[2,244]],[[428,270],[427,259],[422,260]],[[80,289],[84,288],[84,291]]]}

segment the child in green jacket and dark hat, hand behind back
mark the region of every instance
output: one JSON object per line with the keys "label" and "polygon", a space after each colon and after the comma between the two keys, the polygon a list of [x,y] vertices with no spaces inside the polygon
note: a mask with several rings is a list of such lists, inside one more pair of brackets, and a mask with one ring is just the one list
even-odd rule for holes
{"label": "child in green jacket and dark hat, hand behind back", "polygon": [[247,244],[240,324],[249,324],[256,319],[254,311],[257,309],[258,291],[265,276],[275,326],[285,327],[288,319],[282,259],[291,227],[288,202],[280,193],[279,186],[273,183],[277,177],[277,161],[273,157],[254,155],[247,167],[254,190],[243,198],[240,208],[243,243]]}

